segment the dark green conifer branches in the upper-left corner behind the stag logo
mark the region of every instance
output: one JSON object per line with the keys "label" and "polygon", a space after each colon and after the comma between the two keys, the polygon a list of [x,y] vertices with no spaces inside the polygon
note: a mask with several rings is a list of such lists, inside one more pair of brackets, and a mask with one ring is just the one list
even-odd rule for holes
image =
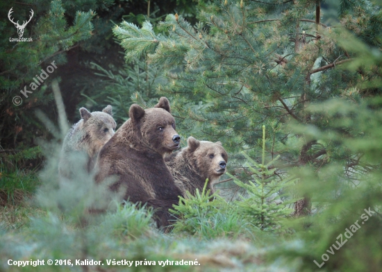
{"label": "dark green conifer branches in the upper-left corner behind the stag logo", "polygon": [[[66,3],[67,4],[67,3]],[[9,22],[7,12],[13,8],[12,16],[27,20],[34,15],[26,25],[24,38],[31,38],[33,42],[11,42],[16,38],[15,26]],[[49,83],[55,72],[39,85],[35,90],[31,83],[33,78],[47,71],[47,67],[54,61],[56,67],[63,65],[67,59],[65,51],[78,46],[78,42],[88,39],[92,34],[92,18],[95,13],[92,10],[75,10],[69,13],[65,10],[65,3],[54,0],[46,4],[46,1],[34,1],[32,4],[19,5],[6,1],[1,3],[1,31],[0,42],[0,134],[3,139],[3,148],[17,148],[19,142],[24,146],[34,146],[35,137],[45,136],[46,128],[39,124],[34,114],[36,108],[51,108],[49,103],[53,96],[49,90]],[[69,20],[68,17],[72,17]],[[17,21],[17,19],[15,19]],[[37,79],[36,79],[37,80]],[[20,93],[22,90],[26,96]],[[28,92],[25,92],[25,91]],[[21,105],[15,105],[13,98],[20,96],[23,100]],[[19,146],[22,148],[23,146]]]}

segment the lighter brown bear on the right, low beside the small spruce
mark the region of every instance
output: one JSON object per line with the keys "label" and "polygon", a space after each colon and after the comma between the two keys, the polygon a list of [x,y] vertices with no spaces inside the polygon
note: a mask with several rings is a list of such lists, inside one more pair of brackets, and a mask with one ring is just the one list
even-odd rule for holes
{"label": "lighter brown bear on the right, low beside the small spruce", "polygon": [[221,142],[198,141],[194,137],[188,137],[187,142],[187,147],[165,158],[175,184],[184,196],[186,191],[194,196],[196,189],[203,191],[208,178],[206,192],[209,189],[213,194],[213,182],[226,173],[228,155]]}

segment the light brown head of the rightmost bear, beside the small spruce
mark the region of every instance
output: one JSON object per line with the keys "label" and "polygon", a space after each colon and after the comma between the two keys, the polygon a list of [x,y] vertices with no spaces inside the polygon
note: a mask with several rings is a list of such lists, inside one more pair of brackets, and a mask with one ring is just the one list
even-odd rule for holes
{"label": "light brown head of the rightmost bear, beside the small spruce", "polygon": [[188,154],[196,162],[202,178],[213,181],[226,173],[228,155],[221,142],[199,141],[194,137],[188,137],[187,143]]}

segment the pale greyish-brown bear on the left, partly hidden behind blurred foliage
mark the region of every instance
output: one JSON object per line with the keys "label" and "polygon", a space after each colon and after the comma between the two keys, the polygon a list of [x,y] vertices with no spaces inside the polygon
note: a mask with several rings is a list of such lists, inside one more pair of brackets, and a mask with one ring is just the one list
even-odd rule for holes
{"label": "pale greyish-brown bear on the left, partly hidden behind blurred foliage", "polygon": [[60,153],[60,177],[73,179],[74,172],[92,171],[102,146],[114,135],[113,109],[108,105],[102,112],[80,109],[81,120],[70,128]]}

